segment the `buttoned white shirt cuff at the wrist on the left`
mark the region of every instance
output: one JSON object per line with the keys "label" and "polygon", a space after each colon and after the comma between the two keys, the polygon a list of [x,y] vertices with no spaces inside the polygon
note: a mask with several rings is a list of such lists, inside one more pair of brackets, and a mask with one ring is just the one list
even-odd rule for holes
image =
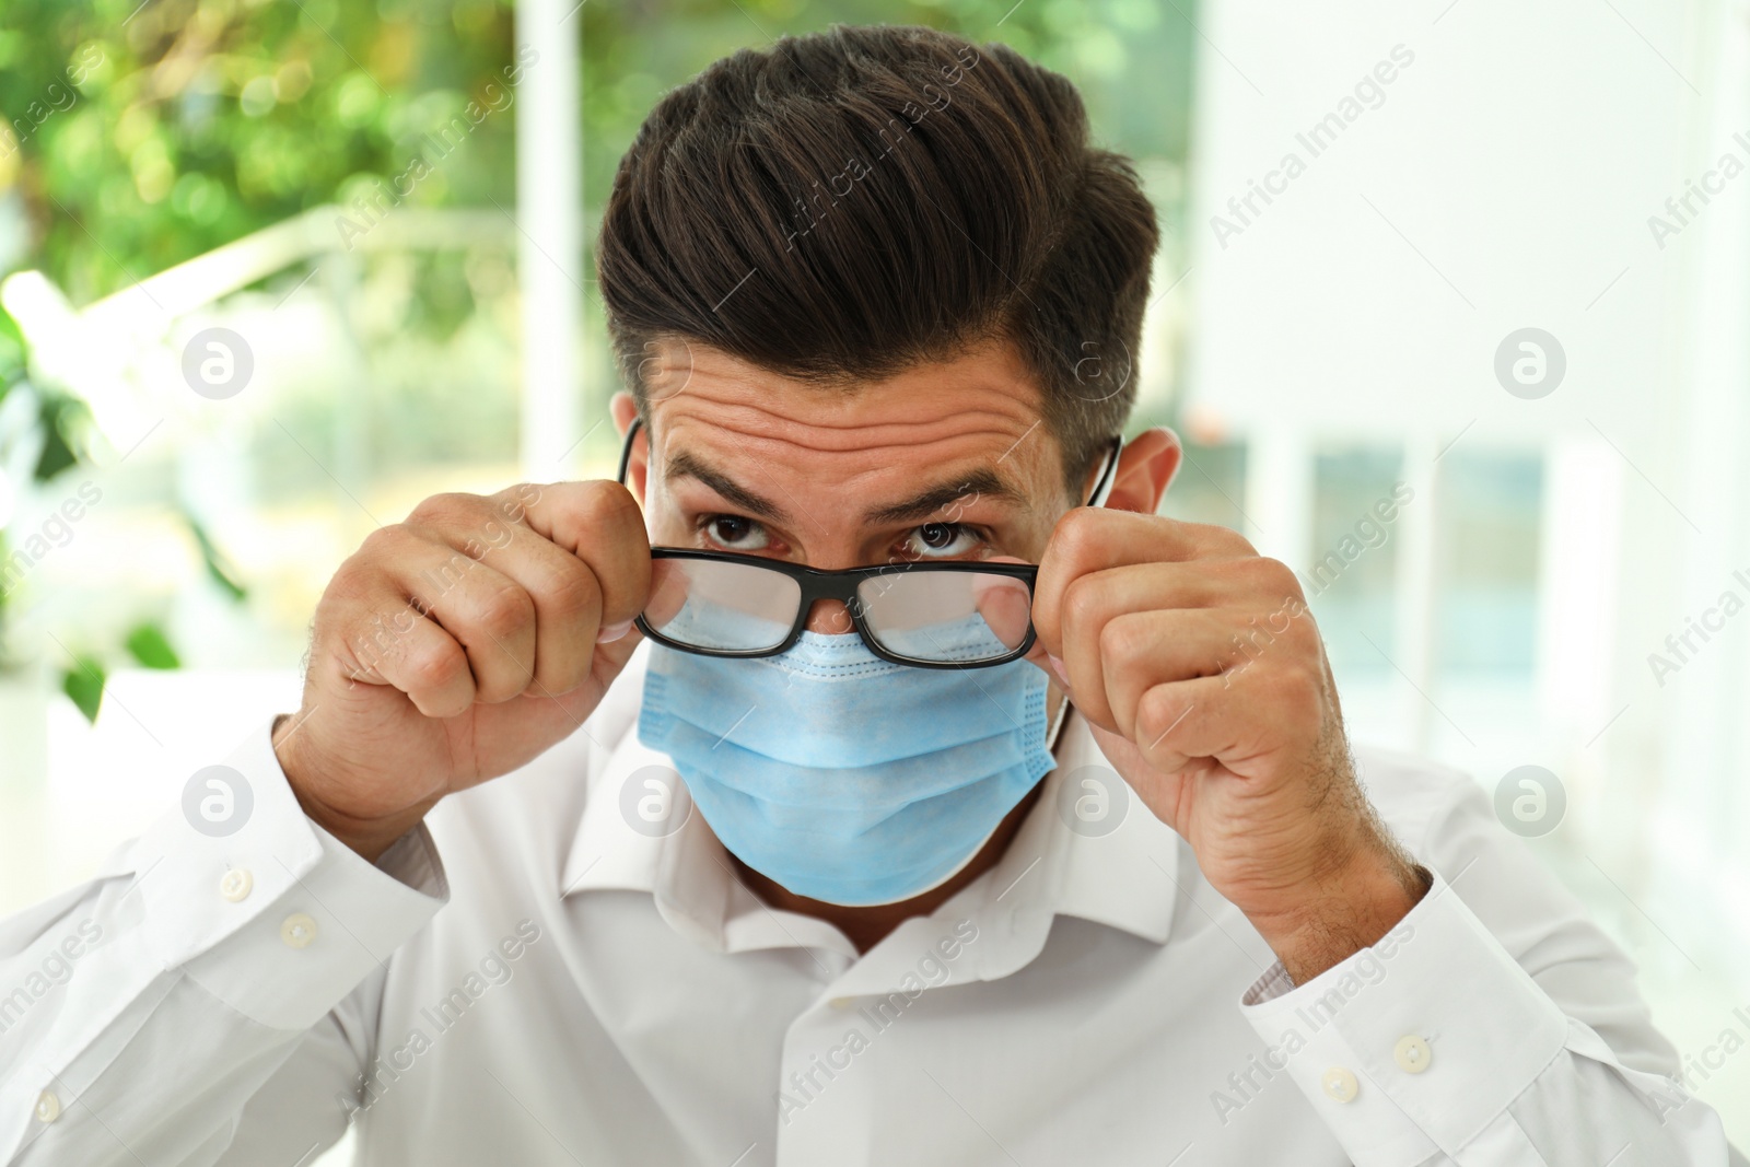
{"label": "buttoned white shirt cuff at the wrist on the left", "polygon": [[424,824],[371,864],[312,822],[271,724],[191,791],[135,845],[133,894],[158,962],[262,1025],[313,1025],[448,899]]}

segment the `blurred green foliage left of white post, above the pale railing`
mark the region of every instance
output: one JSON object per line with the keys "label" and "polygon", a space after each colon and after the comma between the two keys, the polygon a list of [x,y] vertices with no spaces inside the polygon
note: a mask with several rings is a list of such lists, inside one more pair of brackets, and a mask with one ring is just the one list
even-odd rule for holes
{"label": "blurred green foliage left of white post, above the pale railing", "polygon": [[[0,191],[74,303],[406,166],[511,58],[495,0],[5,0]],[[411,201],[513,189],[513,119]]]}

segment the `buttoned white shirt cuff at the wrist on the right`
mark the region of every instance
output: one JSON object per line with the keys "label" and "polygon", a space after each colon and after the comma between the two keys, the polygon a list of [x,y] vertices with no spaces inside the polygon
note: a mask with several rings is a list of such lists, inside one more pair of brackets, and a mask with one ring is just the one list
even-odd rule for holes
{"label": "buttoned white shirt cuff at the wrist on the right", "polygon": [[1298,987],[1276,962],[1239,1008],[1265,1066],[1295,1080],[1356,1167],[1454,1155],[1568,1038],[1561,1008],[1438,875],[1372,948]]}

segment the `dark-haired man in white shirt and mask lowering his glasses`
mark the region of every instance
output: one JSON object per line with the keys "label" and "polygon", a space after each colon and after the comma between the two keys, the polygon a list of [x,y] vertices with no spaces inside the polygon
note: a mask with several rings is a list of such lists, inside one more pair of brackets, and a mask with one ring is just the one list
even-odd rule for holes
{"label": "dark-haired man in white shirt and mask lowering his glasses", "polygon": [[1351,752],[1295,576],[1155,516],[1155,217],[1087,138],[917,28],[665,96],[600,241],[625,486],[366,539],[219,808],[0,933],[7,983],[100,933],[0,1150],[1726,1164],[1475,784]]}

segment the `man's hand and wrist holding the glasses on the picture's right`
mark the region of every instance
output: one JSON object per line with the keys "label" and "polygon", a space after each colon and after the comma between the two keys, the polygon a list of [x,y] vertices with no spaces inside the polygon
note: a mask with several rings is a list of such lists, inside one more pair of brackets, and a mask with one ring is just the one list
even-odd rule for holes
{"label": "man's hand and wrist holding the glasses on the picture's right", "polygon": [[1362,793],[1281,562],[1225,527],[1078,507],[1046,544],[1032,623],[1101,751],[1297,985],[1426,892]]}

